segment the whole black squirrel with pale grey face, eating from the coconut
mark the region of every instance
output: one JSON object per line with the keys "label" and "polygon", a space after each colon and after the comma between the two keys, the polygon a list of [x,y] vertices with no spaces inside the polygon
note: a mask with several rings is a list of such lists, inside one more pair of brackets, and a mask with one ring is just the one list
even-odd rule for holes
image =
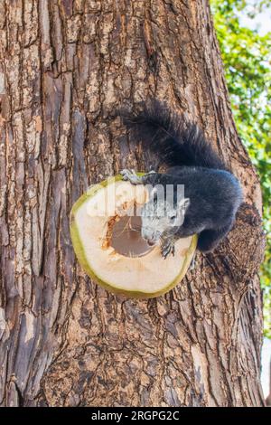
{"label": "whole black squirrel with pale grey face, eating from the coconut", "polygon": [[[134,170],[122,170],[132,184],[152,184],[154,190],[143,206],[141,233],[150,245],[161,242],[162,255],[174,254],[174,242],[199,234],[198,249],[214,250],[230,231],[242,189],[238,179],[215,153],[199,127],[185,123],[182,115],[152,99],[135,114],[120,111],[135,142],[154,152],[169,168],[139,177]],[[162,203],[155,186],[173,185],[173,202]],[[185,197],[177,199],[177,186],[184,185]]]}

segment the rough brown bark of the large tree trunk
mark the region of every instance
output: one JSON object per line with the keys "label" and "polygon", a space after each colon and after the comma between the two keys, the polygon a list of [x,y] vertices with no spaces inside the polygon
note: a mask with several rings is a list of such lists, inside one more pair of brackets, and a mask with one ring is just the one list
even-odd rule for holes
{"label": "rough brown bark of the large tree trunk", "polygon": [[[207,0],[0,0],[0,403],[261,406],[261,196]],[[147,168],[112,112],[154,96],[196,120],[246,203],[164,297],[98,288],[70,244],[89,184]]]}

